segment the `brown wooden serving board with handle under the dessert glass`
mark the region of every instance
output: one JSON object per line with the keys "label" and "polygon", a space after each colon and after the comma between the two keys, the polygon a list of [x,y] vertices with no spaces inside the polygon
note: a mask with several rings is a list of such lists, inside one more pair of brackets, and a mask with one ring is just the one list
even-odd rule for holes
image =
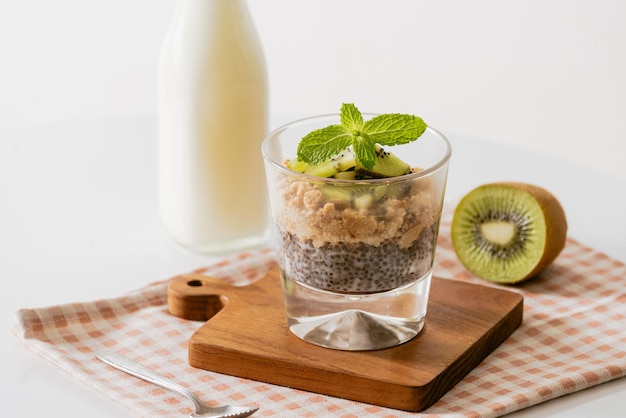
{"label": "brown wooden serving board with handle under the dessert glass", "polygon": [[184,275],[168,288],[172,314],[207,321],[189,342],[205,370],[406,411],[428,408],[522,322],[521,295],[433,278],[426,325],[377,351],[338,351],[287,328],[278,269],[244,287]]}

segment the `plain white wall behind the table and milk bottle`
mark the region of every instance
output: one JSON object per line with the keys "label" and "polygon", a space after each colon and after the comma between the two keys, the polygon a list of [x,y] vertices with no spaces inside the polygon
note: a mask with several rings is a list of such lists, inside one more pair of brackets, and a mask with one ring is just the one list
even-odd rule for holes
{"label": "plain white wall behind the table and milk bottle", "polygon": [[[156,59],[175,4],[3,0],[0,140],[34,123],[154,114]],[[330,113],[342,102],[414,113],[444,132],[626,179],[622,0],[249,5],[273,113]]]}

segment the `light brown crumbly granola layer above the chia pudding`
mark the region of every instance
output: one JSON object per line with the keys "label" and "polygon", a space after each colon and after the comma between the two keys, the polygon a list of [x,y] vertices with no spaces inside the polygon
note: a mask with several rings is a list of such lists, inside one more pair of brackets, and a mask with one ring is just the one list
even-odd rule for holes
{"label": "light brown crumbly granola layer above the chia pudding", "polygon": [[427,179],[410,186],[325,185],[287,176],[281,181],[283,207],[275,210],[277,226],[314,247],[394,242],[408,248],[438,223],[438,202]]}

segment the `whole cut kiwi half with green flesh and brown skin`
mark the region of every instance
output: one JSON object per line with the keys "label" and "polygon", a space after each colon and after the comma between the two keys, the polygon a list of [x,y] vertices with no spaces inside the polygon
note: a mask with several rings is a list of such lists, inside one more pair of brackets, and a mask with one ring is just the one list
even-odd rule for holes
{"label": "whole cut kiwi half with green flesh and brown skin", "polygon": [[513,284],[554,261],[565,247],[567,220],[559,201],[544,188],[490,183],[461,199],[451,233],[454,251],[470,272]]}

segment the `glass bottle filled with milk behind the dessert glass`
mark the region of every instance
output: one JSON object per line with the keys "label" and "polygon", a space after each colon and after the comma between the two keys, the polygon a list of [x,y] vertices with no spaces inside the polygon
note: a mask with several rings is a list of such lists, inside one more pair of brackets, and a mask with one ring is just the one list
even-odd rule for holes
{"label": "glass bottle filled with milk behind the dessert glass", "polygon": [[264,243],[267,75],[245,0],[178,0],[158,92],[159,211],[167,233],[200,253]]}

